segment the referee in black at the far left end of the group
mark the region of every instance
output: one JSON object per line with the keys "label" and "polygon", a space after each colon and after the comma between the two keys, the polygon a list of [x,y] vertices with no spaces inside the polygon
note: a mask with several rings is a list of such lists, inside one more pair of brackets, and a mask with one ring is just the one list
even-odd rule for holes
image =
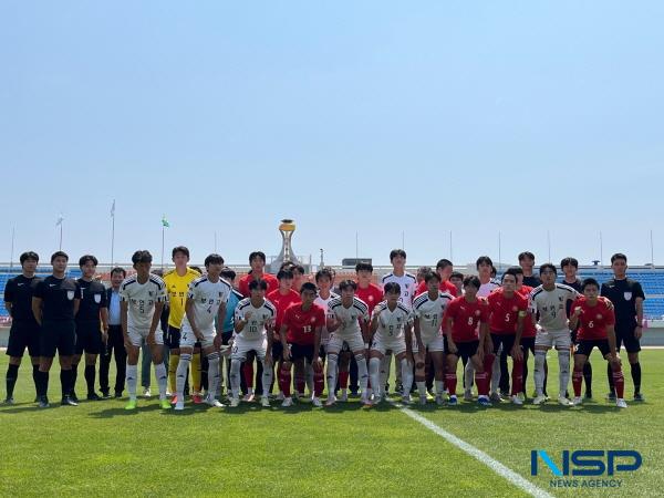
{"label": "referee in black at the far left end of the group", "polygon": [[19,366],[25,347],[32,361],[32,380],[37,388],[39,376],[39,324],[32,314],[32,295],[34,288],[41,281],[34,277],[39,256],[37,252],[23,252],[20,258],[22,274],[7,281],[4,286],[4,308],[11,315],[11,329],[9,331],[9,344],[7,355],[9,367],[7,369],[7,397],[4,403],[13,403],[13,390],[19,376]]}

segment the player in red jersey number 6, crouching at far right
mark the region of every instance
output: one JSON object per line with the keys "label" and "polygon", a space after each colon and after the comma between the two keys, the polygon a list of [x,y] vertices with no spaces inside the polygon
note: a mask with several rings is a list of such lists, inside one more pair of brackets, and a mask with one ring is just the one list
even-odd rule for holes
{"label": "player in red jersey number 6, crouching at far right", "polygon": [[581,404],[581,383],[583,381],[583,365],[590,353],[596,346],[602,356],[611,365],[613,382],[615,384],[615,405],[626,408],[624,401],[625,378],[622,373],[620,357],[615,351],[615,315],[613,309],[605,300],[599,299],[600,284],[595,279],[585,279],[581,284],[583,295],[572,304],[570,317],[570,329],[577,332],[574,344],[574,372],[572,373],[572,385],[574,386],[574,405]]}

